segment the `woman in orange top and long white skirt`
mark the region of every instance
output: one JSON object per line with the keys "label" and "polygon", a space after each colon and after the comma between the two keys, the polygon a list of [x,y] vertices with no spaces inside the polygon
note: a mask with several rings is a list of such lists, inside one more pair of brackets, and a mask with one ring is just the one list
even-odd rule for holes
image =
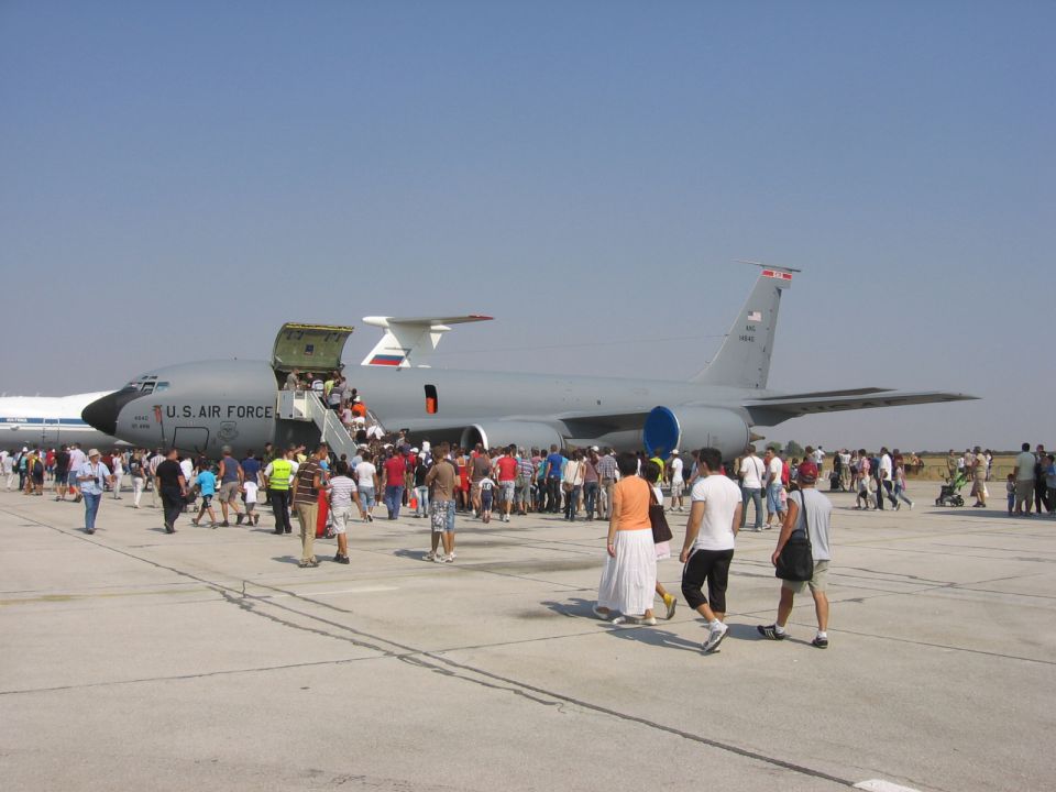
{"label": "woman in orange top and long white skirt", "polygon": [[651,487],[635,473],[638,460],[624,453],[616,460],[620,480],[613,486],[608,518],[608,558],[602,571],[594,614],[613,624],[637,622],[654,625],[652,597],[657,588],[657,548],[649,524]]}

